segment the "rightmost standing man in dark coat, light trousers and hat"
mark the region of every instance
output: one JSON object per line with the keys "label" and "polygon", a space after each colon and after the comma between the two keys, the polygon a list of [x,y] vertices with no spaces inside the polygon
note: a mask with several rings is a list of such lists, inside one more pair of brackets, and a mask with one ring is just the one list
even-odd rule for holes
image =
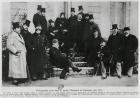
{"label": "rightmost standing man in dark coat, light trousers and hat", "polygon": [[124,28],[124,44],[123,44],[123,70],[124,74],[131,77],[133,74],[133,67],[135,65],[135,52],[138,48],[138,40],[136,36],[130,34],[130,28]]}

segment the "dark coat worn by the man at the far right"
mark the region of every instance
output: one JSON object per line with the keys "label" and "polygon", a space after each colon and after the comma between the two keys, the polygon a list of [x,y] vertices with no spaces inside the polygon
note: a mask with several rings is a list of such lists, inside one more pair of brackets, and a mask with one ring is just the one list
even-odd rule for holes
{"label": "dark coat worn by the man at the far right", "polygon": [[134,35],[130,34],[128,37],[124,38],[123,58],[125,66],[132,67],[135,65],[134,53],[136,52],[137,48],[138,48],[138,40]]}

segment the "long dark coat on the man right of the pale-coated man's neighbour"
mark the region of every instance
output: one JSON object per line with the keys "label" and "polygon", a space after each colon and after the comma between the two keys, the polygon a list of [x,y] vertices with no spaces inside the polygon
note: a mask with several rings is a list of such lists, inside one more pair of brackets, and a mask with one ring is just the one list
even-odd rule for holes
{"label": "long dark coat on the man right of the pale-coated man's neighbour", "polygon": [[32,66],[32,74],[41,74],[43,73],[43,69],[46,60],[46,41],[45,36],[37,33],[33,34],[32,41],[32,56],[31,56],[31,66]]}

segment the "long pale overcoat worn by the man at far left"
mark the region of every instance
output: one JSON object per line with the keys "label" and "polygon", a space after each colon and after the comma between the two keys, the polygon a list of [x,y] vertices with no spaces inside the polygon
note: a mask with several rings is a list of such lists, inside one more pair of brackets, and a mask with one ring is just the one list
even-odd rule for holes
{"label": "long pale overcoat worn by the man at far left", "polygon": [[[7,39],[7,48],[9,50],[9,77],[27,78],[26,71],[26,48],[22,36],[16,32],[9,34]],[[15,53],[20,50],[19,56]]]}

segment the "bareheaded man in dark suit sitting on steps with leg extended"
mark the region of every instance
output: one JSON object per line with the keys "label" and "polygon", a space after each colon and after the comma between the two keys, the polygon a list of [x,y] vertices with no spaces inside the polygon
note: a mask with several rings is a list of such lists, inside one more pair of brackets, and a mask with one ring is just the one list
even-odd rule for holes
{"label": "bareheaded man in dark suit sitting on steps with leg extended", "polygon": [[59,67],[63,69],[60,74],[60,79],[66,79],[66,73],[69,72],[69,67],[71,67],[73,71],[81,71],[81,69],[72,64],[68,57],[61,54],[59,50],[59,41],[57,39],[52,40],[52,47],[50,48],[49,54],[51,63],[55,63],[57,67],[59,65]]}

